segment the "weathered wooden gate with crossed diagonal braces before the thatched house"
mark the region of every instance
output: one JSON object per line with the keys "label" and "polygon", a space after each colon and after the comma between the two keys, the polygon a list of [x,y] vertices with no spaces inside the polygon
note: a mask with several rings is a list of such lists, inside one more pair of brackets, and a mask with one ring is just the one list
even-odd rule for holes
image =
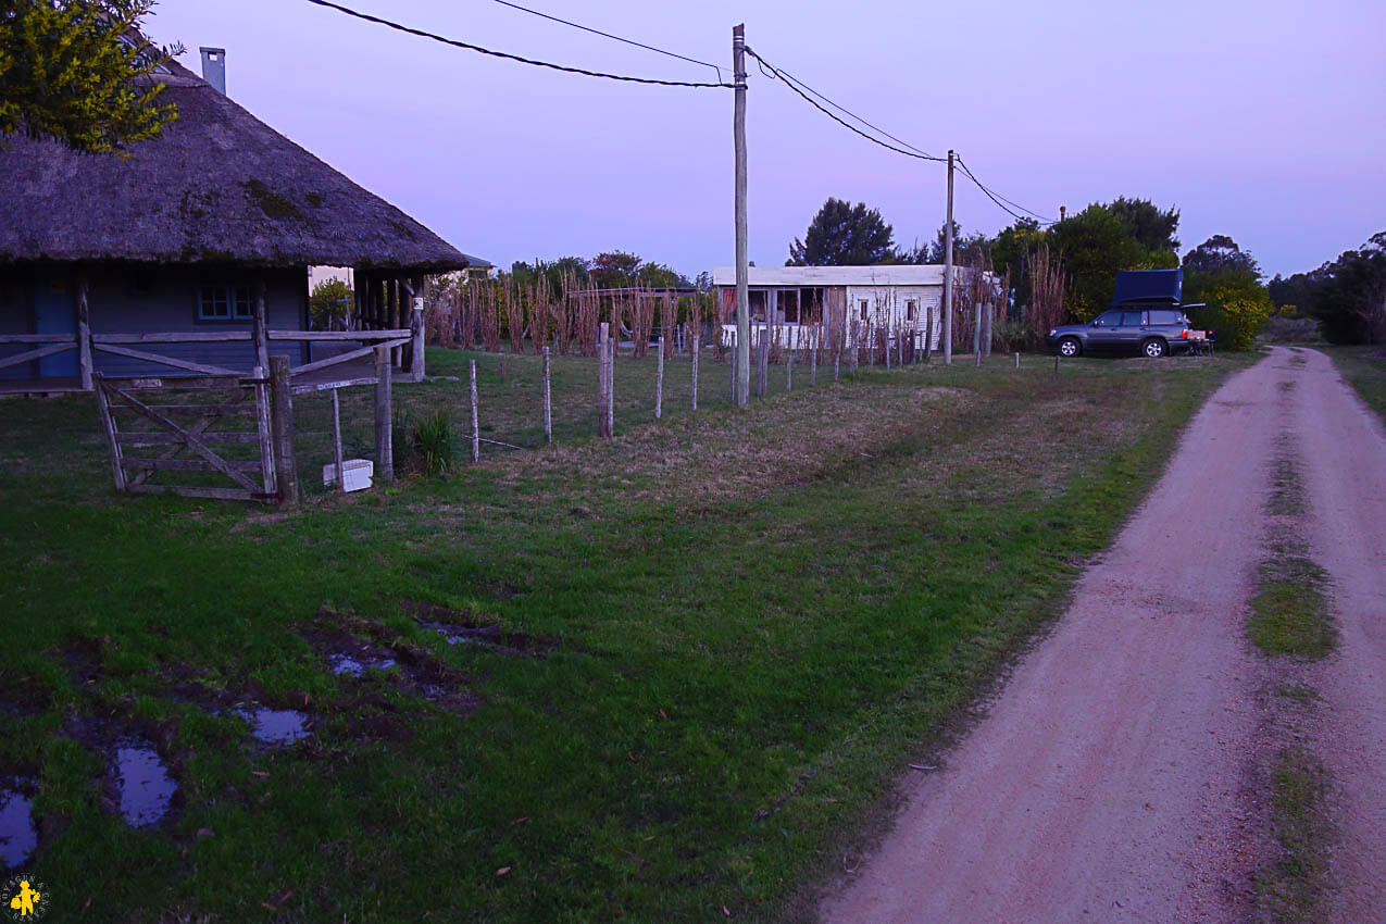
{"label": "weathered wooden gate with crossed diagonal braces before the thatched house", "polygon": [[[269,378],[263,370],[256,367],[248,378],[97,374],[93,381],[116,490],[277,500]],[[155,478],[168,478],[166,472],[183,472],[195,483],[154,483]],[[226,479],[234,486],[227,486]]]}

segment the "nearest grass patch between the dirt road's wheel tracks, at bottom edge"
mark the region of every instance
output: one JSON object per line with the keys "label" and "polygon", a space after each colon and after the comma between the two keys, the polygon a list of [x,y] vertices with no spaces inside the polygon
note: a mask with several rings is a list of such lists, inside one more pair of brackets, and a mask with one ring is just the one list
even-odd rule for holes
{"label": "nearest grass patch between the dirt road's wheel tracks, at bottom edge", "polygon": [[1277,924],[1322,918],[1332,827],[1325,806],[1326,772],[1315,754],[1283,748],[1271,780],[1271,815],[1279,858],[1256,878],[1258,903]]}

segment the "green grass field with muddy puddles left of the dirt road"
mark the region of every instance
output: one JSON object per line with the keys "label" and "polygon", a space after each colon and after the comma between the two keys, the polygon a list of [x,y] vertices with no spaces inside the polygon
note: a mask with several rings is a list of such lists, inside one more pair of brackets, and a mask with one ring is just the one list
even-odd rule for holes
{"label": "green grass field with muddy puddles left of the dirt road", "polygon": [[[1252,359],[827,370],[747,413],[704,363],[705,410],[674,384],[661,424],[653,362],[618,362],[613,441],[593,367],[559,360],[556,447],[288,515],[116,496],[90,396],[0,402],[25,869],[62,921],[802,917]],[[538,443],[536,360],[482,366],[486,434]],[[460,423],[463,389],[396,398]],[[324,402],[297,413],[308,472]],[[342,652],[395,665],[333,673]],[[312,734],[258,744],[255,705]],[[179,784],[141,828],[108,770],[130,736]]]}

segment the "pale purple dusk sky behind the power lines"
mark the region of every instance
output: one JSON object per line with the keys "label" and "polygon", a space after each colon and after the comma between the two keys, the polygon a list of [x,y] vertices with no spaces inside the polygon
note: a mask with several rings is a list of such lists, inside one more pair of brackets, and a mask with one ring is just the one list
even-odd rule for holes
{"label": "pale purple dusk sky behind the power lines", "polygon": [[[715,79],[489,0],[342,0],[516,54]],[[816,90],[1056,217],[1117,195],[1181,211],[1184,249],[1232,236],[1267,274],[1386,230],[1386,4],[629,3],[531,0],[722,66],[730,28]],[[159,42],[227,50],[227,90],[460,249],[511,260],[635,251],[732,263],[732,93],[622,85],[449,48],[302,0],[164,0]],[[942,224],[944,166],[868,144],[751,64],[750,255],[780,265],[829,195],[902,245]],[[1010,217],[959,175],[956,219]]]}

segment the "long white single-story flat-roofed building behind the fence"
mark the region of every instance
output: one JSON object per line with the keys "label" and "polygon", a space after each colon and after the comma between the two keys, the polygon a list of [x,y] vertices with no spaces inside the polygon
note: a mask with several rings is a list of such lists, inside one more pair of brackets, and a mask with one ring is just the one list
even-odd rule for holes
{"label": "long white single-story flat-roofed building behind the fence", "polygon": [[[954,267],[958,292],[965,267]],[[931,349],[938,349],[944,299],[944,266],[753,266],[750,267],[751,341],[766,319],[775,328],[773,341],[794,348],[812,346],[822,331],[825,344],[839,335],[847,344],[876,331],[887,337],[911,335],[919,349],[931,330]],[[736,335],[736,270],[712,270],[718,288],[722,337]],[[930,326],[931,323],[931,326]]]}

